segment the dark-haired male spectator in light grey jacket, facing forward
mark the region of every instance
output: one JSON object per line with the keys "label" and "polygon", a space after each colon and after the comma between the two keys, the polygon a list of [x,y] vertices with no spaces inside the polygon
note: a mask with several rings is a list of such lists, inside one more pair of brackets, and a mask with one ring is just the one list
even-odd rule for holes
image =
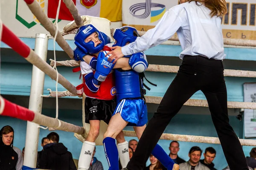
{"label": "dark-haired male spectator in light grey jacket, facing forward", "polygon": [[179,164],[180,170],[209,170],[209,168],[200,163],[202,150],[198,146],[191,147],[189,150],[189,161]]}

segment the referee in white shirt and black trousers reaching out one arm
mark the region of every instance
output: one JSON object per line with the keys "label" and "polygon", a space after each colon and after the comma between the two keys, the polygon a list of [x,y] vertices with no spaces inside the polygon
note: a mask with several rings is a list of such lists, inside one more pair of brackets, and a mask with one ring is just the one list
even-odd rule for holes
{"label": "referee in white shirt and black trousers reaching out one arm", "polygon": [[[159,45],[177,32],[183,51],[179,71],[163,96],[157,112],[128,163],[128,170],[142,170],[160,136],[183,104],[195,92],[206,96],[212,121],[231,170],[248,170],[236,133],[229,124],[227,89],[222,60],[225,58],[221,16],[227,13],[225,0],[180,0],[170,8],[155,28],[135,42],[113,47],[111,60]],[[108,55],[107,54],[107,55]]]}

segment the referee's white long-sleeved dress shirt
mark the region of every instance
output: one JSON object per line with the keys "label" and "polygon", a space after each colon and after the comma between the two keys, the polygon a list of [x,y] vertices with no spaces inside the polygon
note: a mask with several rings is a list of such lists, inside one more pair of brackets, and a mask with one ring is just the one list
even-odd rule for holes
{"label": "referee's white long-sleeved dress shirt", "polygon": [[224,59],[224,44],[220,17],[210,17],[210,10],[195,1],[170,8],[157,25],[135,42],[122,47],[127,56],[159,45],[177,32],[184,55],[201,55]]}

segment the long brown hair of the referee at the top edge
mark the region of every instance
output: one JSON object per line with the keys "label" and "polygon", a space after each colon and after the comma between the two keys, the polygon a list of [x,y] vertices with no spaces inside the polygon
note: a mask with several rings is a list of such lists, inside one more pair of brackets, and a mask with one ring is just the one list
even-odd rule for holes
{"label": "long brown hair of the referee at the top edge", "polygon": [[[222,17],[227,13],[227,3],[226,0],[186,0],[187,2],[195,1],[196,3],[203,3],[204,6],[209,8],[211,12],[211,17],[217,16]],[[198,5],[198,3],[197,3]]]}

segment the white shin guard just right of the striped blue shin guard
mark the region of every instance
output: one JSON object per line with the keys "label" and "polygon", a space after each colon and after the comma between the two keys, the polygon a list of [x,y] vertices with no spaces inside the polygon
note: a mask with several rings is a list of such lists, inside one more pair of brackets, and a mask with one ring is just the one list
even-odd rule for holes
{"label": "white shin guard just right of the striped blue shin guard", "polygon": [[122,168],[125,168],[130,161],[128,147],[127,141],[117,144],[117,150]]}

